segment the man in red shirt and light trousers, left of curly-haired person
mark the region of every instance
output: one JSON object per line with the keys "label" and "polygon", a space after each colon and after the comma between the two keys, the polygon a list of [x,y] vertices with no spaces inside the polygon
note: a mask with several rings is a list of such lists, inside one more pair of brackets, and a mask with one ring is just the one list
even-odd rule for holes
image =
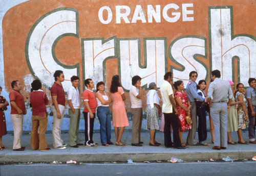
{"label": "man in red shirt and light trousers, left of curly-haired person", "polygon": [[14,151],[23,151],[25,147],[20,144],[20,137],[23,132],[23,115],[27,114],[25,107],[25,102],[20,90],[22,90],[22,85],[16,81],[11,83],[12,91],[9,94],[10,104],[11,104],[11,119],[13,125],[13,147]]}

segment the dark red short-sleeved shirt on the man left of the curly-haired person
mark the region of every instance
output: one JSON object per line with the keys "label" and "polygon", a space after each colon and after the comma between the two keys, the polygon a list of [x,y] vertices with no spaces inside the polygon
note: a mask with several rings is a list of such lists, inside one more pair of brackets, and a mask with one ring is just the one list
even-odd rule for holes
{"label": "dark red short-sleeved shirt on the man left of the curly-haired person", "polygon": [[[26,107],[22,94],[18,90],[12,89],[9,94],[10,102],[15,102],[19,109],[22,110],[23,114],[25,114]],[[11,114],[18,114],[18,111],[11,104]]]}

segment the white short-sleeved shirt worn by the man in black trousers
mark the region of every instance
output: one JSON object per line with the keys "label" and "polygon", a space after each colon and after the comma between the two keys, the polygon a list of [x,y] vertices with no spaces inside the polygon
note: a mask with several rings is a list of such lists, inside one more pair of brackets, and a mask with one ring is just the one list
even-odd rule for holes
{"label": "white short-sleeved shirt worn by the man in black trousers", "polygon": [[172,85],[170,85],[170,83],[167,81],[163,81],[163,84],[160,86],[160,92],[161,92],[162,102],[163,102],[162,112],[172,113],[173,105],[172,103],[170,103],[170,99],[169,99],[169,95],[173,94]]}

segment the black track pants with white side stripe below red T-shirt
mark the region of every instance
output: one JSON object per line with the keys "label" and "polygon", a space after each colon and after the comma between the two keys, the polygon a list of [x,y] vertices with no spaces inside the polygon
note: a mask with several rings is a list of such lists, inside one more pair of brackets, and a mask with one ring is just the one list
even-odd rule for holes
{"label": "black track pants with white side stripe below red T-shirt", "polygon": [[94,118],[95,113],[93,113],[93,118],[90,118],[90,112],[83,112],[84,117],[84,137],[86,142],[93,143],[93,127],[94,127]]}

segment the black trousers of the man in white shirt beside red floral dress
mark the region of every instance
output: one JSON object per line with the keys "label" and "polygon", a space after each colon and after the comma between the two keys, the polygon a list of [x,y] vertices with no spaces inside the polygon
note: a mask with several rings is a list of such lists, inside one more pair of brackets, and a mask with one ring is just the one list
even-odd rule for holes
{"label": "black trousers of the man in white shirt beside red floral dress", "polygon": [[170,147],[172,146],[172,137],[170,136],[170,123],[172,123],[173,127],[173,137],[174,143],[173,147],[177,148],[181,146],[180,138],[179,138],[179,123],[178,117],[175,113],[163,113],[164,115],[164,146]]}

